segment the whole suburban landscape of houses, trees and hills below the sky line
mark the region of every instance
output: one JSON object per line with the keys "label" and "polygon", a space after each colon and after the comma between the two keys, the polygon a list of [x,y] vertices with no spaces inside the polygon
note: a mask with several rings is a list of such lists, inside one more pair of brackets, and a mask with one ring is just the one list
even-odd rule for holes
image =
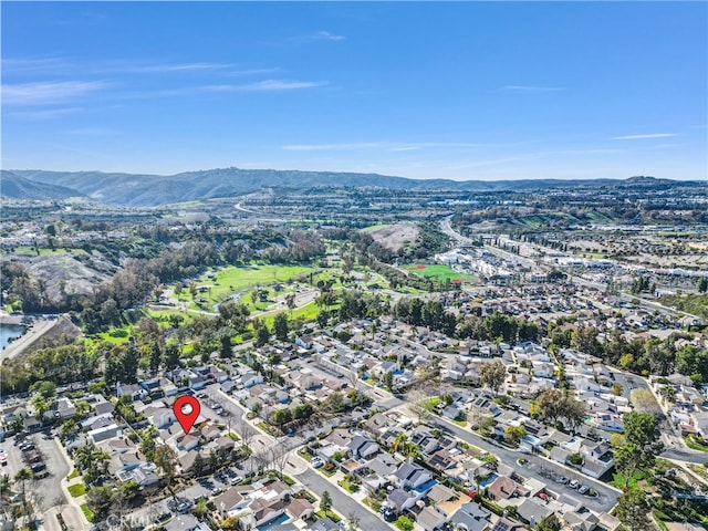
{"label": "whole suburban landscape of houses, trees and hills below the sky line", "polygon": [[3,530],[708,529],[705,183],[199,174],[3,170]]}

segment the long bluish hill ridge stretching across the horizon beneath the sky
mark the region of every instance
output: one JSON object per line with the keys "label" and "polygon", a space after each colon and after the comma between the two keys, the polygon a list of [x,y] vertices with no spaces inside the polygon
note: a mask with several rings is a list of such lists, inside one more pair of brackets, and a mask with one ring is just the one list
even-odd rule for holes
{"label": "long bluish hill ridge stretching across the horizon beneath the sky", "polygon": [[[34,184],[72,189],[93,199],[134,207],[159,206],[173,202],[240,196],[263,187],[285,189],[309,189],[321,187],[379,187],[394,190],[470,190],[470,191],[532,191],[543,189],[574,189],[579,187],[632,188],[690,186],[685,181],[632,177],[616,179],[527,179],[527,180],[446,180],[407,179],[378,174],[353,174],[334,171],[299,171],[274,169],[222,168],[188,171],[171,176],[142,174],[106,174],[102,171],[44,171],[12,170],[12,174]],[[700,183],[693,185],[700,186]],[[15,192],[17,194],[17,192]],[[65,194],[65,192],[64,192]],[[2,195],[6,195],[4,189]],[[8,197],[17,197],[10,196]],[[66,197],[65,195],[53,198]]]}

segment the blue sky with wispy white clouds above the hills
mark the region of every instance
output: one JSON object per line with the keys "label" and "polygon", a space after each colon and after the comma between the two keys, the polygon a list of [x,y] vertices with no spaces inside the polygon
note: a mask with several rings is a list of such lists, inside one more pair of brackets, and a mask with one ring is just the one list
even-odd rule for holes
{"label": "blue sky with wispy white clouds above the hills", "polygon": [[706,2],[2,2],[2,167],[707,178]]}

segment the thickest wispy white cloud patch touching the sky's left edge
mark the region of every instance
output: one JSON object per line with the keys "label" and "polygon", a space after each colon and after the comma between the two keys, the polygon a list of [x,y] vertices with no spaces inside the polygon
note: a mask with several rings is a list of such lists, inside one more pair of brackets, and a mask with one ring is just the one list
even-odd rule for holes
{"label": "thickest wispy white cloud patch touching the sky's left edge", "polygon": [[103,81],[60,81],[2,85],[2,104],[8,106],[49,105],[80,97],[107,87]]}

